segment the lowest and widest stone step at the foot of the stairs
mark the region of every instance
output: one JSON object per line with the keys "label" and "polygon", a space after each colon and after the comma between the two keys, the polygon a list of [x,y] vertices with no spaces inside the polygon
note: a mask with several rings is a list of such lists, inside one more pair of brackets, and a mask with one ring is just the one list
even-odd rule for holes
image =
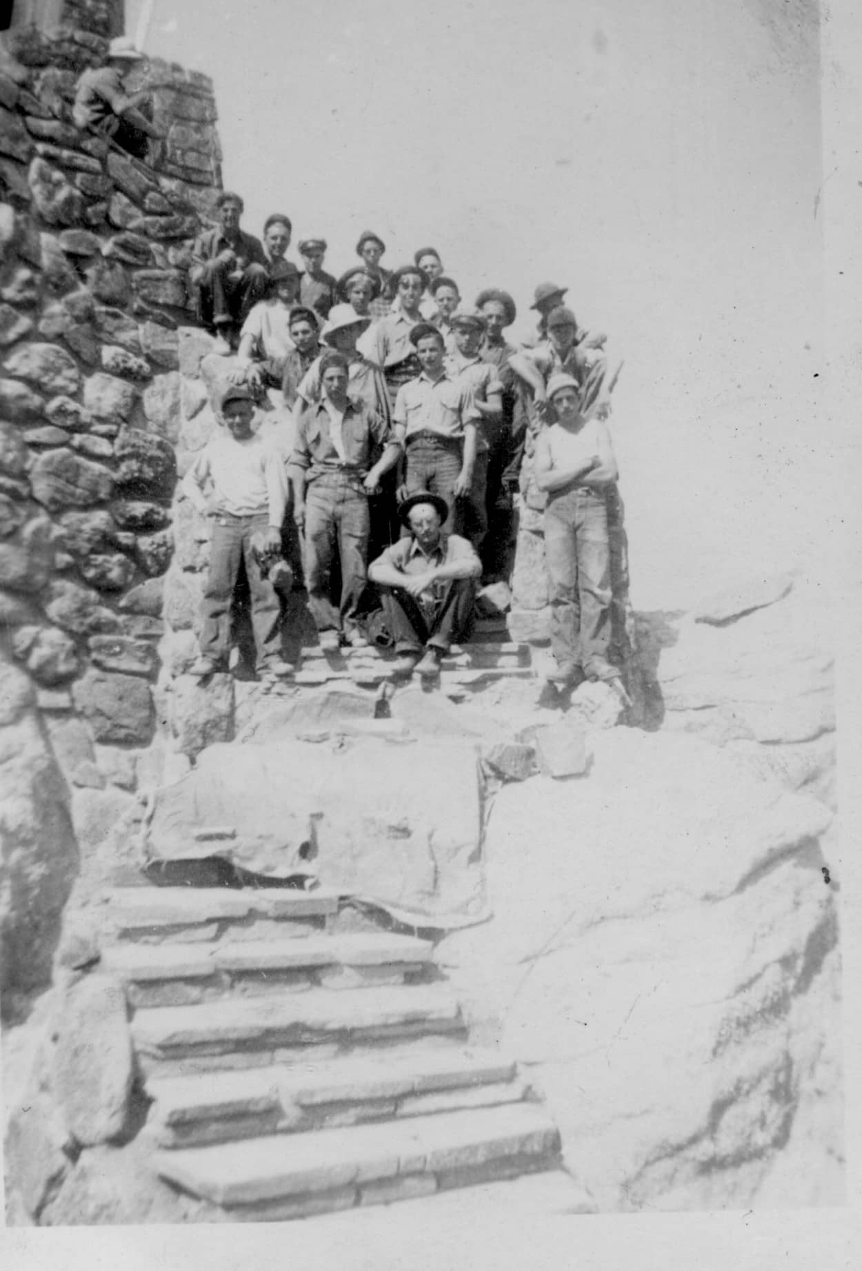
{"label": "lowest and widest stone step at the foot of the stairs", "polygon": [[[455,1181],[558,1164],[559,1134],[535,1103],[156,1152],[156,1173],[231,1218],[305,1216],[430,1195]],[[245,1213],[243,1213],[245,1210]]]}

